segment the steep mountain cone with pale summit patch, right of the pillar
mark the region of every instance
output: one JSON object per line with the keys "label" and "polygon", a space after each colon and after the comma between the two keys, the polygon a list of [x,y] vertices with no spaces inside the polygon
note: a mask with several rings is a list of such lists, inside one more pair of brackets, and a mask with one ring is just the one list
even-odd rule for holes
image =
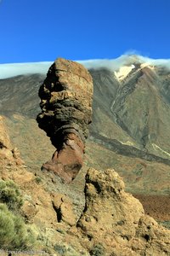
{"label": "steep mountain cone with pale summit patch, right of the pillar", "polygon": [[163,67],[133,63],[125,77],[116,77],[116,73],[108,70],[91,73],[94,78],[92,131],[168,159],[170,72]]}

